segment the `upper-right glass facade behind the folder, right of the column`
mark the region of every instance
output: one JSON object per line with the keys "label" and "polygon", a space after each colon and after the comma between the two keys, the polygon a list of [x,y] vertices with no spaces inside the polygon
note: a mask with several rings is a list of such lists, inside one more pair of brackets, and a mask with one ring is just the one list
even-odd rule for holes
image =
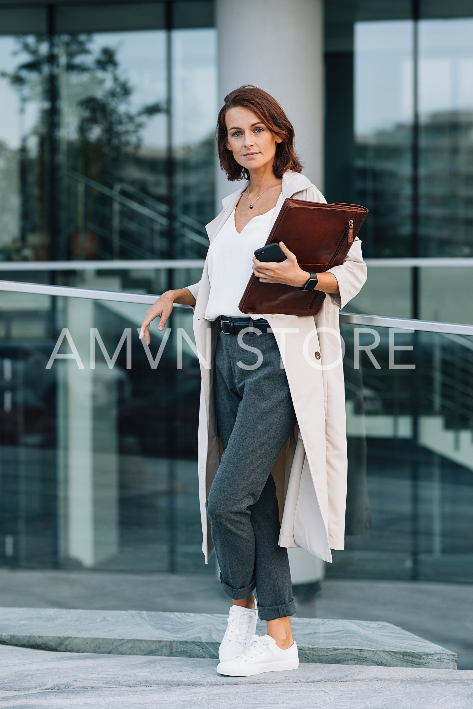
{"label": "upper-right glass facade behind the folder, right of the column", "polygon": [[367,257],[473,255],[472,30],[462,0],[325,6],[325,191],[369,208]]}

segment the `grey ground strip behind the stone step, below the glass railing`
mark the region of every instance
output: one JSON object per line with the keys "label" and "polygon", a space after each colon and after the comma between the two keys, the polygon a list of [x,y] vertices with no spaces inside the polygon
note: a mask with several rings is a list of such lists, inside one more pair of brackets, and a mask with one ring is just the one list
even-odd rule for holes
{"label": "grey ground strip behind the stone step, below the glass railing", "polygon": [[[394,623],[457,652],[459,669],[473,669],[473,588],[467,584],[327,579],[315,600],[296,601],[299,617]],[[2,569],[2,605],[226,613],[228,598],[210,575]]]}

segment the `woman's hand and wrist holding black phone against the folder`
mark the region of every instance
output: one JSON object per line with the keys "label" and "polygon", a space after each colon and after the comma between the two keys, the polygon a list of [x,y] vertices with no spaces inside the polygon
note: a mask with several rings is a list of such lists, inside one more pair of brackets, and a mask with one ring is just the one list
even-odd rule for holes
{"label": "woman's hand and wrist holding black phone against the folder", "polygon": [[[261,283],[284,283],[286,286],[301,288],[311,277],[311,274],[301,269],[297,263],[296,256],[284,246],[282,241],[279,242],[279,246],[284,252],[286,260],[281,263],[263,263],[254,257],[253,273],[260,279]],[[317,278],[316,291],[323,291],[323,293],[330,293],[340,297],[338,280],[333,273],[318,273]]]}

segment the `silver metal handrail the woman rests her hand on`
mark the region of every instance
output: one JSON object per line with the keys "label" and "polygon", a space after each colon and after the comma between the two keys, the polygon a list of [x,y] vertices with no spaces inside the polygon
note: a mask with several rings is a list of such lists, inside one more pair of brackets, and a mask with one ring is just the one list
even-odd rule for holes
{"label": "silver metal handrail the woman rests her hand on", "polygon": [[[99,262],[101,263],[101,262]],[[65,296],[68,298],[89,298],[96,301],[118,301],[121,303],[152,304],[159,296],[147,293],[126,293],[123,291],[100,291],[88,288],[73,288],[72,286],[48,286],[36,283],[20,283],[17,281],[0,281],[0,291],[14,293],[32,293],[44,296]],[[189,308],[189,306],[175,306]],[[400,330],[418,330],[425,333],[443,333],[449,335],[466,335],[473,337],[473,325],[461,323],[436,323],[433,320],[412,320],[409,318],[389,318],[377,315],[360,315],[357,313],[340,313],[340,322],[349,325],[367,325],[373,328],[399,328]]]}

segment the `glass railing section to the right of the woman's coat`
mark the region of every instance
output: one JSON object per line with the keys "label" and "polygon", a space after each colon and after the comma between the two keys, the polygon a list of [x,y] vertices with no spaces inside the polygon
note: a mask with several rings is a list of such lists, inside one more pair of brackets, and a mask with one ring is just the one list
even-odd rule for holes
{"label": "glass railing section to the right of the woman's coat", "polygon": [[473,337],[342,334],[347,537],[327,575],[473,581]]}

